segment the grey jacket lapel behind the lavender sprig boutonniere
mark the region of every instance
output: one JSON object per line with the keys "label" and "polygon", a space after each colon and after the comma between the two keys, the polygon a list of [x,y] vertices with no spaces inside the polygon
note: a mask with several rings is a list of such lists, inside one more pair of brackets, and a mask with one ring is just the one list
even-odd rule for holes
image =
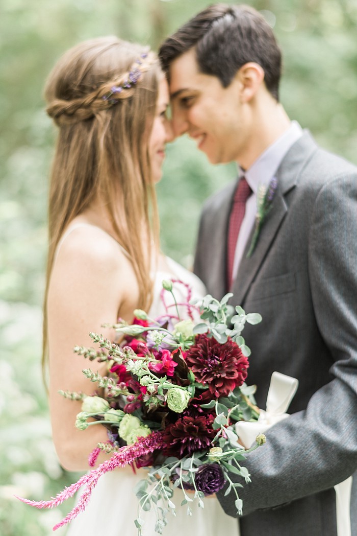
{"label": "grey jacket lapel behind the lavender sprig boutonniere", "polygon": [[283,161],[277,170],[276,177],[278,187],[275,192],[272,209],[264,221],[252,256],[247,258],[250,241],[252,240],[253,230],[248,239],[247,247],[239,265],[236,280],[234,281],[232,292],[234,293],[234,302],[242,304],[245,300],[249,286],[254,281],[256,274],[263,264],[264,258],[271,247],[279,232],[279,228],[287,214],[285,196],[296,187],[298,177],[307,159],[316,149],[316,144],[312,137],[306,131],[303,136],[290,148],[286,153]]}

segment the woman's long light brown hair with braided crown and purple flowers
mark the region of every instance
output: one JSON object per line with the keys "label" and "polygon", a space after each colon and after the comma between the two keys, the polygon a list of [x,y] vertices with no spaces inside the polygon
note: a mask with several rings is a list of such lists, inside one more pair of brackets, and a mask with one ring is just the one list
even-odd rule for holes
{"label": "woman's long light brown hair with braided crown and purple flowers", "polygon": [[158,248],[158,215],[148,138],[161,76],[147,47],[107,37],[67,51],[48,77],[47,112],[59,132],[49,189],[43,371],[48,359],[47,295],[56,247],[69,223],[94,199],[103,200],[115,237],[130,255],[139,286],[138,307],[150,306],[150,258]]}

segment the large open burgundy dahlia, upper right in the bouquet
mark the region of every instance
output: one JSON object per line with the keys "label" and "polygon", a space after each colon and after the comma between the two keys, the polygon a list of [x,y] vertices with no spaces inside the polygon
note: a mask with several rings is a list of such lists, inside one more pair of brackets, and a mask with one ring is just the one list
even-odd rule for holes
{"label": "large open burgundy dahlia, upper right in the bouquet", "polygon": [[207,385],[215,397],[227,396],[242,385],[247,377],[248,359],[242,354],[237,343],[228,339],[219,344],[206,334],[196,336],[189,348],[186,363],[196,380]]}

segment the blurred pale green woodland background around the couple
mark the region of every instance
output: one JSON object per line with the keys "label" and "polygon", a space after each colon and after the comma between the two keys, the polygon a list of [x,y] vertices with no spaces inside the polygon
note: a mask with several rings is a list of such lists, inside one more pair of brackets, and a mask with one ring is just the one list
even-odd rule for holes
{"label": "blurred pale green woodland background around the couple", "polygon": [[[280,96],[287,113],[321,145],[357,163],[357,0],[246,3],[263,12],[283,49]],[[206,0],[0,1],[1,536],[50,534],[71,505],[37,511],[13,494],[46,499],[79,476],[57,463],[40,371],[47,177],[55,137],[43,111],[45,77],[78,41],[116,34],[157,48],[207,5]],[[158,185],[162,247],[189,266],[200,206],[236,170],[210,166],[186,137],[167,153]]]}

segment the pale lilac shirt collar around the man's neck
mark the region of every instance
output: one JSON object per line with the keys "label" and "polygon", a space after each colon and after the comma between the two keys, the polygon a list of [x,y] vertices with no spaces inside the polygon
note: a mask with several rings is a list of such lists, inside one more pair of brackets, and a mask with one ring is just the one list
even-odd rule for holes
{"label": "pale lilac shirt collar around the man's neck", "polygon": [[302,136],[302,128],[297,121],[292,121],[289,128],[272,143],[260,157],[250,166],[249,169],[243,171],[240,175],[246,177],[246,180],[253,190],[257,192],[261,184],[268,186],[271,179],[275,176],[280,162],[290,147]]}

